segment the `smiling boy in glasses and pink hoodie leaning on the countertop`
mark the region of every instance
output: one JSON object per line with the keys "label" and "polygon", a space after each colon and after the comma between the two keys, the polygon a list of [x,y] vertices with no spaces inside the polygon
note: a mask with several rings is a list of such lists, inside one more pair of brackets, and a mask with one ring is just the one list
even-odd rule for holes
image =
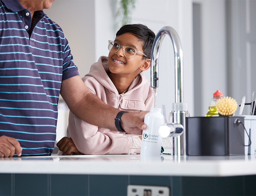
{"label": "smiling boy in glasses and pink hoodie leaning on the countertop", "polygon": [[[108,57],[100,57],[82,79],[86,86],[104,103],[123,111],[150,110],[153,107],[153,89],[142,71],[151,65],[151,50],[155,34],[141,24],[125,25],[109,41]],[[72,112],[69,114],[67,137],[57,146],[61,154],[127,154],[133,148],[124,132],[91,125]],[[65,142],[66,140],[66,142]],[[139,142],[139,141],[137,141]],[[75,150],[71,150],[73,148]],[[140,149],[131,151],[139,153]]]}

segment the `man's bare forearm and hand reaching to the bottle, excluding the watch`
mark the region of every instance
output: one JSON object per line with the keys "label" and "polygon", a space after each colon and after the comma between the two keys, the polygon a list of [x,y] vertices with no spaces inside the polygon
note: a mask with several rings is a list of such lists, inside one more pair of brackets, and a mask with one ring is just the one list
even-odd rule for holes
{"label": "man's bare forearm and hand reaching to the bottle, excluding the watch", "polygon": [[[120,110],[106,105],[91,93],[80,76],[63,80],[60,94],[77,117],[90,124],[116,130],[114,119]],[[127,133],[141,135],[141,130],[146,128],[143,122],[146,113],[126,112],[121,117],[121,126]]]}

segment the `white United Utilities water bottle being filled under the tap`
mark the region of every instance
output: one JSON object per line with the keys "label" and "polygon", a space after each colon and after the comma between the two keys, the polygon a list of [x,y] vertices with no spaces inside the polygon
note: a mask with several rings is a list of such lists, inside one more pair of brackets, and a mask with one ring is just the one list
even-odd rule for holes
{"label": "white United Utilities water bottle being filled under the tap", "polygon": [[142,132],[141,159],[147,160],[150,157],[160,157],[162,137],[159,135],[159,126],[164,124],[160,108],[151,108],[145,115],[144,123],[147,125]]}

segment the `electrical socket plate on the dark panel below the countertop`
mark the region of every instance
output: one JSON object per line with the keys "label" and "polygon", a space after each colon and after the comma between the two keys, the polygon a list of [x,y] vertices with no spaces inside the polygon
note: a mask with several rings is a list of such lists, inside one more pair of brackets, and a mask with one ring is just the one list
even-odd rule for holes
{"label": "electrical socket plate on the dark panel below the countertop", "polygon": [[167,186],[128,185],[127,196],[169,196]]}

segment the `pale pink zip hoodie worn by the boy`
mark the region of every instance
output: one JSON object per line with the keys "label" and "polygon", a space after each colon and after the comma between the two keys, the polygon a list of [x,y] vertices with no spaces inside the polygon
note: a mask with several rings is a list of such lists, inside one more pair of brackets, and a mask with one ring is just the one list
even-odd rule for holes
{"label": "pale pink zip hoodie worn by the boy", "polygon": [[[124,94],[118,94],[108,73],[108,57],[102,56],[91,65],[90,72],[82,79],[94,94],[114,108],[136,112],[149,111],[153,107],[153,88],[143,72],[136,76]],[[83,154],[128,154],[128,150],[134,148],[128,134],[91,125],[71,111],[67,137],[72,138],[76,148]],[[137,143],[139,144],[139,139]],[[140,149],[130,150],[130,153],[140,153]],[[59,151],[58,155],[61,154],[63,152]]]}

